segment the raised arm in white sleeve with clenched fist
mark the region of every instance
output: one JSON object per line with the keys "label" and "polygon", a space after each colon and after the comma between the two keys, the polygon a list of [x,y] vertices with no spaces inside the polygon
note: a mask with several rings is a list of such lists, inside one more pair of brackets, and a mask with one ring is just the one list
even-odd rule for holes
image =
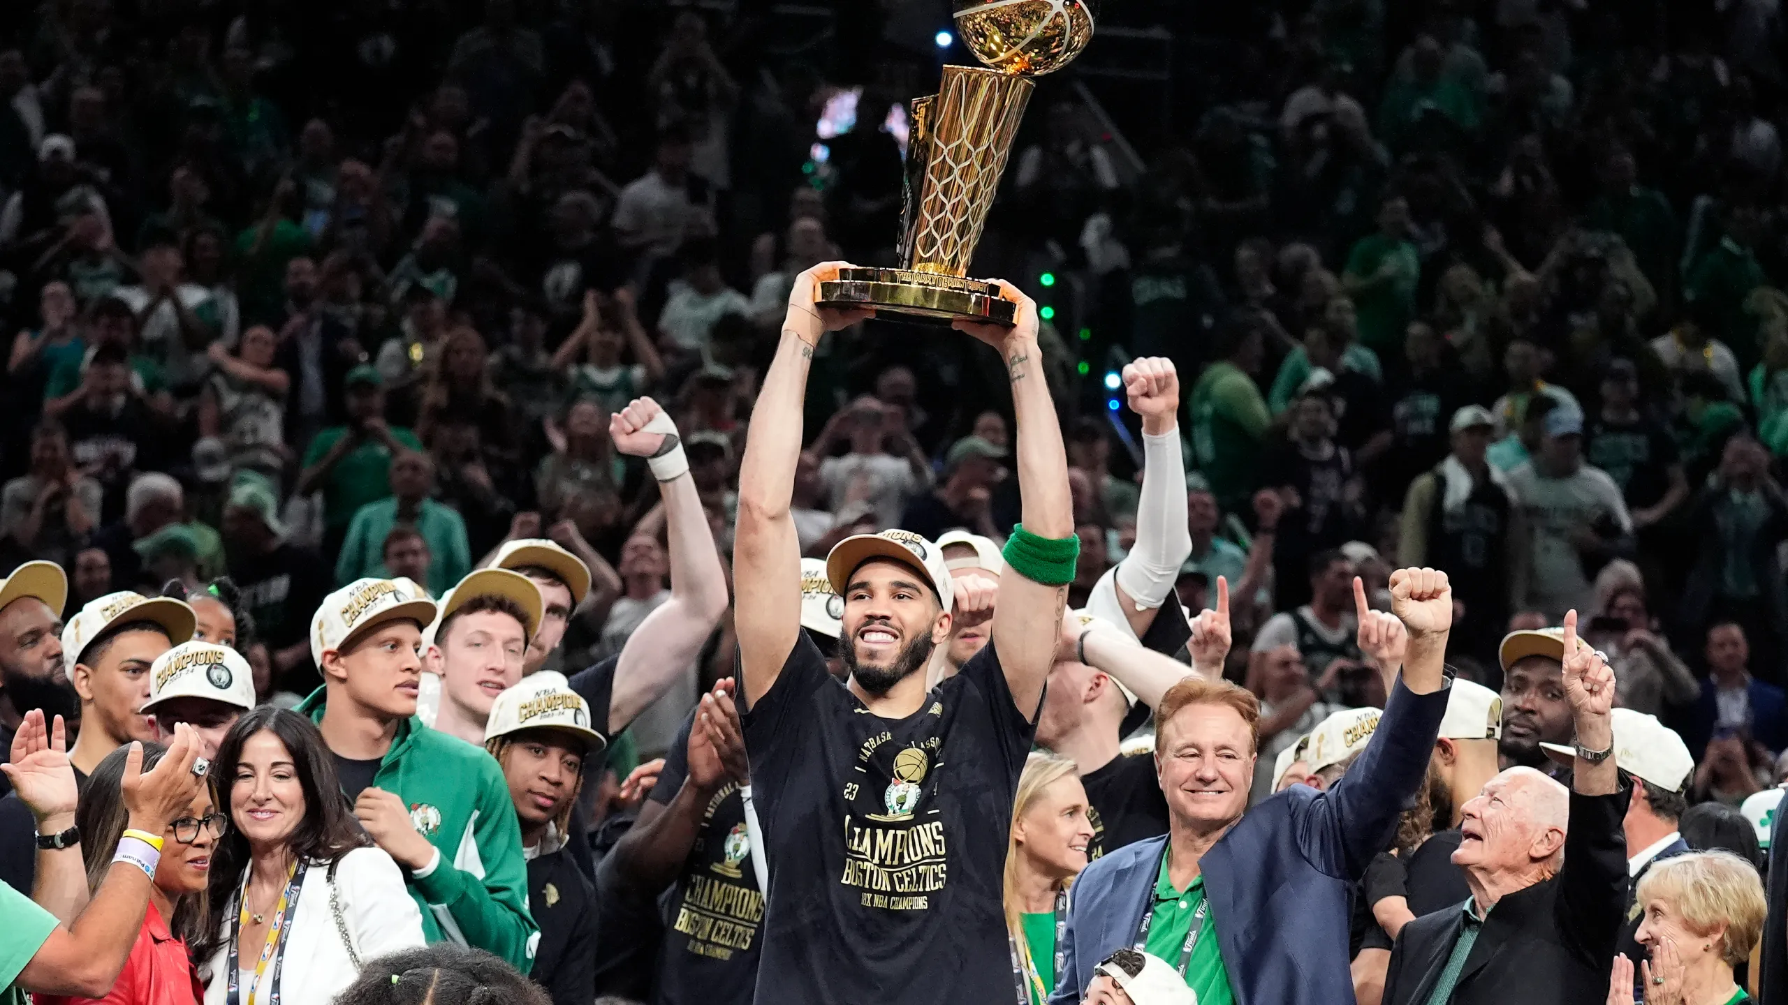
{"label": "raised arm in white sleeve with clenched fist", "polygon": [[[1143,417],[1143,494],[1135,545],[1118,563],[1112,585],[1130,631],[1141,638],[1173,599],[1180,565],[1193,554],[1185,526],[1185,454],[1180,451],[1180,377],[1173,359],[1132,359],[1123,368],[1130,411]],[[1225,615],[1228,612],[1225,610]]]}

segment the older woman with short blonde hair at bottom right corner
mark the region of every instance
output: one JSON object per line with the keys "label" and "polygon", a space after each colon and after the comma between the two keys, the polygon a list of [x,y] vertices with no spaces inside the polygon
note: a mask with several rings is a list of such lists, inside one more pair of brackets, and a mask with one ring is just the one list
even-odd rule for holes
{"label": "older woman with short blonde hair at bottom right corner", "polygon": [[[1652,862],[1640,880],[1638,939],[1645,1005],[1738,1005],[1750,996],[1733,967],[1763,935],[1763,880],[1731,851],[1691,851]],[[1607,1005],[1632,1005],[1632,960],[1615,957]]]}

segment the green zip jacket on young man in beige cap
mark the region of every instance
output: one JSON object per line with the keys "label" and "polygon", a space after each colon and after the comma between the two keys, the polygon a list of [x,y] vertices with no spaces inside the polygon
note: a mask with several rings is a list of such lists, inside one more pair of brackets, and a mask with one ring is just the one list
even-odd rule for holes
{"label": "green zip jacket on young man in beige cap", "polygon": [[[324,721],[325,688],[297,712]],[[440,849],[427,876],[409,876],[429,942],[486,950],[527,973],[540,928],[527,912],[522,828],[502,769],[488,753],[411,717],[397,724],[374,785],[397,794],[409,819]]]}

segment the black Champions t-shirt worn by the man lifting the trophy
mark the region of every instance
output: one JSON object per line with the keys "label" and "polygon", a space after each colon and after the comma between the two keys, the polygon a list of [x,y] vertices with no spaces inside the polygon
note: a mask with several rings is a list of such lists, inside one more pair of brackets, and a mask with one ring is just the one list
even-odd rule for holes
{"label": "black Champions t-shirt worn by the man lifting the trophy", "polygon": [[758,1001],[1010,1001],[1001,873],[1033,726],[994,644],[890,721],[801,635],[746,726],[771,867]]}

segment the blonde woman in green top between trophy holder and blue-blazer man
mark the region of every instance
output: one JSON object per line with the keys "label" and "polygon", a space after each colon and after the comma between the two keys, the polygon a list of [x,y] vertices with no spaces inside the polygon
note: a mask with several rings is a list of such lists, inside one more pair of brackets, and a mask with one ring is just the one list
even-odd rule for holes
{"label": "blonde woman in green top between trophy holder and blue-blazer man", "polygon": [[1067,885],[1087,867],[1092,819],[1075,762],[1033,753],[1012,801],[1005,916],[1019,1001],[1044,1005],[1055,992],[1067,923]]}

